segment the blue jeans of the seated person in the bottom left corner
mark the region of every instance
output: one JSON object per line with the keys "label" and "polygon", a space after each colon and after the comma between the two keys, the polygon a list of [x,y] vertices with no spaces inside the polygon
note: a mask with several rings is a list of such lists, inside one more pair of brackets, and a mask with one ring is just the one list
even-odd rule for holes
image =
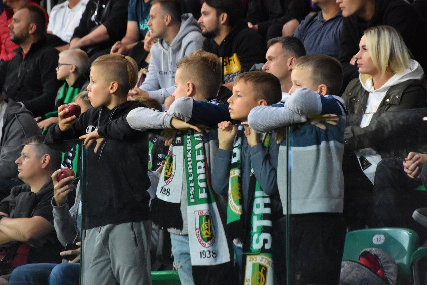
{"label": "blue jeans of the seated person in the bottom left corner", "polygon": [[80,263],[34,263],[15,268],[11,285],[78,285]]}

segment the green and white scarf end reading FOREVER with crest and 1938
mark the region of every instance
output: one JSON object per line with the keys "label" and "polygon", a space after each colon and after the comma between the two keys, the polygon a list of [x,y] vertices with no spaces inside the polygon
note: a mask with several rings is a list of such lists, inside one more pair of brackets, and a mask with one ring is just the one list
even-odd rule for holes
{"label": "green and white scarf end reading FOREVER with crest and 1938", "polygon": [[189,130],[183,137],[191,264],[210,266],[229,262],[226,235],[210,186],[203,136]]}

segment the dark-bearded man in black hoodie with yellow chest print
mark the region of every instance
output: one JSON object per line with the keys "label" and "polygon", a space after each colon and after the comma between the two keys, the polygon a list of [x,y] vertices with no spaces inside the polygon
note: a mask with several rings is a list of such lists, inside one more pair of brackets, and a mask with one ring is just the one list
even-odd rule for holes
{"label": "dark-bearded man in black hoodie with yellow chest print", "polygon": [[255,63],[265,62],[266,43],[240,18],[240,0],[205,0],[198,23],[206,39],[203,50],[216,54],[223,66],[223,87],[218,99],[231,96],[234,79]]}

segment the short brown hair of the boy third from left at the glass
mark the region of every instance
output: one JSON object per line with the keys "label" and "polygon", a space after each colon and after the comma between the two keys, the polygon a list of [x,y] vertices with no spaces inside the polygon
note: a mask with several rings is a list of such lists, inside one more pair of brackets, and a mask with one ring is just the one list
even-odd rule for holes
{"label": "short brown hair of the boy third from left at the glass", "polygon": [[278,103],[282,99],[282,88],[279,79],[271,73],[249,71],[239,74],[234,84],[244,82],[251,84],[255,91],[255,99],[264,99],[267,105]]}

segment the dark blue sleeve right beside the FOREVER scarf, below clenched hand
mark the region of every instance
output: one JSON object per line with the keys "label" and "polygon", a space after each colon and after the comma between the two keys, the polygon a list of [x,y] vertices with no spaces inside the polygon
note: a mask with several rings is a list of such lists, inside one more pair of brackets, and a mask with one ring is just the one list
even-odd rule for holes
{"label": "dark blue sleeve right beside the FOREVER scarf, below clenched hand", "polygon": [[215,171],[212,172],[212,188],[219,195],[226,195],[229,186],[232,151],[218,149],[215,157]]}

